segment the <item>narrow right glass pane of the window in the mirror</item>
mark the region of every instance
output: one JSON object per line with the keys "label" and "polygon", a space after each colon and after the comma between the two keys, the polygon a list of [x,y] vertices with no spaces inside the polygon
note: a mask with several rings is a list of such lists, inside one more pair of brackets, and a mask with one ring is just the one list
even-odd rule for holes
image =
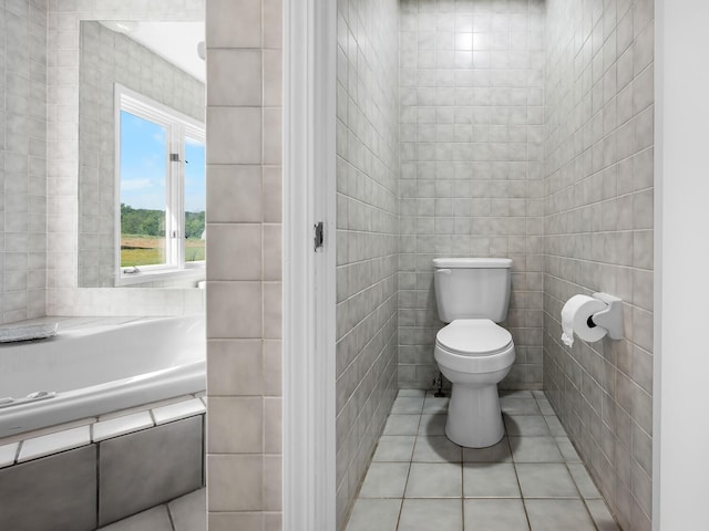
{"label": "narrow right glass pane of the window in the mirror", "polygon": [[204,142],[185,138],[185,262],[204,260],[205,149]]}

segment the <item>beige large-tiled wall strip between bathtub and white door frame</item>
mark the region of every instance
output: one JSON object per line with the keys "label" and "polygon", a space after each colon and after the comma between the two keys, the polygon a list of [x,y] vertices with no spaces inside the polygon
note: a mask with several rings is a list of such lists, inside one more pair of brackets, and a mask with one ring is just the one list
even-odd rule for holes
{"label": "beige large-tiled wall strip between bathtub and white door frame", "polygon": [[281,529],[281,2],[207,0],[207,511]]}

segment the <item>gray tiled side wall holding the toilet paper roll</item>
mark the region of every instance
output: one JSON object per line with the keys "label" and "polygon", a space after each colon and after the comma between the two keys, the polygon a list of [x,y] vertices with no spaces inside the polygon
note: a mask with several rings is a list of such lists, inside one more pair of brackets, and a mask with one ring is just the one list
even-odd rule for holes
{"label": "gray tiled side wall holding the toilet paper roll", "polygon": [[[653,6],[547,1],[544,386],[628,531],[653,509]],[[568,348],[562,305],[593,291],[625,337]]]}

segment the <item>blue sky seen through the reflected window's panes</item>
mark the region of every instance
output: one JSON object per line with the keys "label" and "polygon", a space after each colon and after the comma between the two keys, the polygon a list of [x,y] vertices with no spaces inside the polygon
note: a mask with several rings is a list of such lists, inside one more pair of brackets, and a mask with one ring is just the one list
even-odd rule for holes
{"label": "blue sky seen through the reflected window's panes", "polygon": [[[121,202],[165,210],[166,132],[158,124],[121,112]],[[204,144],[185,145],[185,210],[205,209]]]}

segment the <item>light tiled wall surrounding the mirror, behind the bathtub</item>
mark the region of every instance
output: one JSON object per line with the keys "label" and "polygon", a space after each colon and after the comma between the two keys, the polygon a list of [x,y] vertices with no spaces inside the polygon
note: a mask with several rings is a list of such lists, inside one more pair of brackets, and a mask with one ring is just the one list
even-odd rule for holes
{"label": "light tiled wall surrounding the mirror, behind the bathtub", "polygon": [[[17,3],[17,2],[16,2]],[[188,313],[203,293],[193,289],[79,288],[79,62],[82,20],[204,20],[204,0],[48,0],[47,12],[47,296],[48,315],[110,315],[121,308],[146,315],[141,305]],[[138,289],[133,290],[137,292]],[[131,302],[119,302],[132,299]],[[182,305],[186,301],[187,305]],[[84,305],[85,304],[85,305]],[[125,314],[125,313],[124,313]],[[160,315],[160,313],[156,313]]]}

